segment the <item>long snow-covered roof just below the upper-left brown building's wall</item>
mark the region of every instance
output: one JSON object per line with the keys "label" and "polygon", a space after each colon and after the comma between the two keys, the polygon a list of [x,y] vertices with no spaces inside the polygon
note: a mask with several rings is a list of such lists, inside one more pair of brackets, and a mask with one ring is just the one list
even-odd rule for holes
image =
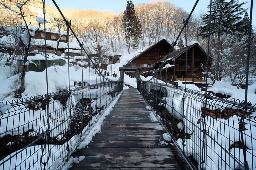
{"label": "long snow-covered roof just below the upper-left brown building's wall", "polygon": [[[31,46],[44,46],[44,39],[31,39]],[[57,48],[57,41],[46,40],[46,46],[50,46],[52,48]],[[68,44],[65,42],[60,42],[58,48],[66,49],[66,48],[68,48]],[[69,48],[70,49],[80,49],[80,46],[78,44],[70,42]]]}

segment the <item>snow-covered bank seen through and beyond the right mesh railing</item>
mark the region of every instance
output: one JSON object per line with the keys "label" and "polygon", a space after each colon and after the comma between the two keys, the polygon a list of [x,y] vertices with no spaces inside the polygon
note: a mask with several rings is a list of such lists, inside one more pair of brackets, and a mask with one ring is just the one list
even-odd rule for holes
{"label": "snow-covered bank seen through and beyond the right mesh railing", "polygon": [[[184,84],[180,84],[180,86],[185,87]],[[187,88],[193,90],[200,90],[193,84],[188,84]],[[213,86],[213,88],[216,87]],[[239,90],[240,95],[242,95],[242,91],[244,90]],[[184,94],[184,91],[182,90],[177,89],[175,92],[173,110],[173,88],[167,88],[167,97],[163,98],[163,100],[166,99],[166,101],[168,101],[168,104],[166,105],[167,110],[169,110],[169,112],[176,119],[181,120],[181,122],[177,124],[177,127],[180,129],[180,131],[182,131],[185,126],[185,132],[191,135],[190,139],[184,139],[186,144],[185,146],[182,145],[183,139],[181,138],[178,139],[176,143],[180,146],[180,148],[184,147],[184,152],[187,156],[191,155],[194,159],[196,159],[196,161],[198,162],[198,169],[201,169],[201,154],[203,146],[203,132],[201,131],[203,129],[203,118],[201,114],[202,108],[204,107],[205,98],[202,97],[202,95],[196,94],[194,92],[195,91],[187,90],[186,94],[184,95],[184,108],[182,107],[182,97]],[[236,93],[236,91],[234,91],[232,95],[234,95],[234,93]],[[239,98],[243,99],[243,96],[239,96]],[[251,96],[253,95],[251,94]],[[250,99],[252,100],[252,98]],[[207,103],[207,107],[210,107],[210,110],[219,109],[220,111],[222,111],[225,108],[237,108],[237,106],[234,106],[231,103],[211,99],[208,99]],[[183,121],[183,114],[186,117],[185,121]],[[246,117],[244,119],[244,122],[246,123],[245,128],[248,130],[243,132],[243,137],[245,139],[244,141],[247,147],[246,158],[249,162],[249,168],[253,169],[256,168],[256,122],[254,120],[254,117],[256,117],[256,112],[252,111],[250,117]],[[240,119],[241,117],[236,115],[233,115],[228,119],[214,119],[210,116],[205,117],[205,128],[207,130],[207,135],[205,137],[207,162],[206,169],[229,169],[229,166],[231,166],[232,169],[236,169],[239,168],[239,164],[243,165],[243,150],[237,147],[231,147],[235,143],[241,141],[241,134],[238,130],[238,123]]]}

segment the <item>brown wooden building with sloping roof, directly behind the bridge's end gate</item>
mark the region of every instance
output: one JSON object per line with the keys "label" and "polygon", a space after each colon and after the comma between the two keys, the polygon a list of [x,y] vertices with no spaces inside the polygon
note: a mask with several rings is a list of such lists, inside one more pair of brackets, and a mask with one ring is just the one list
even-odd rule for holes
{"label": "brown wooden building with sloping roof, directly behind the bridge's end gate", "polygon": [[[156,44],[148,47],[139,55],[133,57],[124,65],[124,67],[142,67],[140,74],[153,70],[155,68],[154,63],[166,56],[171,49],[171,44],[167,40],[162,39]],[[135,75],[129,74],[129,76]]]}

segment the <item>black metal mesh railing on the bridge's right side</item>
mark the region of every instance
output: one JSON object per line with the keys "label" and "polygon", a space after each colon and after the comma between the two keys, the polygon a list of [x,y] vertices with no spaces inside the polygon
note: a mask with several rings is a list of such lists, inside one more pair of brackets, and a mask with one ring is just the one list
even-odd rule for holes
{"label": "black metal mesh railing on the bridge's right side", "polygon": [[190,168],[256,169],[256,105],[152,81],[138,90]]}

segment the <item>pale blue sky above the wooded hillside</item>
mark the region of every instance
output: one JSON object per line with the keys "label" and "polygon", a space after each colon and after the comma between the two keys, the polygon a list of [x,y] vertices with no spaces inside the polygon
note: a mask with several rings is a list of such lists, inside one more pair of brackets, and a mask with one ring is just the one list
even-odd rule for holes
{"label": "pale blue sky above the wooded hillside", "polygon": [[[127,0],[55,0],[60,8],[64,9],[79,9],[79,10],[97,10],[97,11],[113,11],[119,13],[125,10]],[[173,5],[182,8],[188,13],[193,8],[196,0],[165,0]],[[244,5],[245,8],[250,8],[250,0],[239,0],[240,2],[247,2]],[[132,0],[133,4],[141,4],[150,2],[150,0]],[[199,0],[194,14],[199,14],[200,12],[207,12],[207,5],[209,5],[210,0]],[[54,6],[51,0],[46,1],[47,4]],[[248,9],[248,14],[250,14],[250,9]],[[256,26],[256,2],[253,4],[252,13],[252,25]]]}

